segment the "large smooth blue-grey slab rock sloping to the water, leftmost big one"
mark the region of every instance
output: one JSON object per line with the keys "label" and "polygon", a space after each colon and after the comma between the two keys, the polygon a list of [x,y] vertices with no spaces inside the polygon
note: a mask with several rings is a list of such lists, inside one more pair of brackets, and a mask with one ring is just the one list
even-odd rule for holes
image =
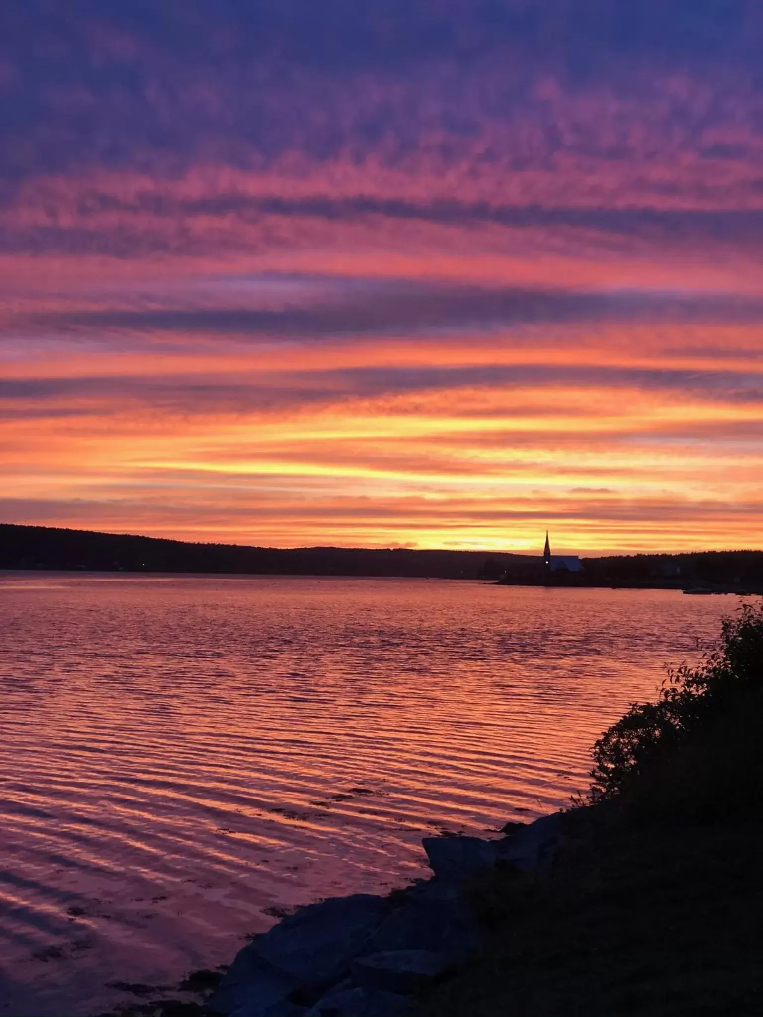
{"label": "large smooth blue-grey slab rock sloping to the water, leftmost big one", "polygon": [[383,897],[335,897],[300,908],[246,949],[302,988],[331,984],[348,971],[389,911]]}

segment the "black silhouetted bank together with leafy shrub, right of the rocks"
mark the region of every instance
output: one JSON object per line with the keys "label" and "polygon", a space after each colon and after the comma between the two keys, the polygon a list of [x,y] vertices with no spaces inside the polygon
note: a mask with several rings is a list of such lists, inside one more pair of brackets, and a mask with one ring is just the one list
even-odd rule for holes
{"label": "black silhouetted bank together with leafy shrub, right of the rocks", "polygon": [[763,1013],[763,608],[597,743],[544,877],[473,888],[486,951],[417,1017]]}

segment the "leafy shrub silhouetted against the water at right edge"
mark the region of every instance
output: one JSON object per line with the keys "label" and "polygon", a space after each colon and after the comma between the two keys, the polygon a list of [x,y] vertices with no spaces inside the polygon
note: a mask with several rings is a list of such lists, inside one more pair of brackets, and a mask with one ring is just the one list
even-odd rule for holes
{"label": "leafy shrub silhouetted against the water at right edge", "polygon": [[668,671],[656,703],[633,704],[596,741],[589,800],[661,795],[676,804],[664,785],[683,768],[682,805],[691,782],[691,795],[703,797],[695,811],[707,812],[713,797],[736,807],[745,784],[760,794],[762,720],[763,603],[746,604],[723,619],[699,666]]}

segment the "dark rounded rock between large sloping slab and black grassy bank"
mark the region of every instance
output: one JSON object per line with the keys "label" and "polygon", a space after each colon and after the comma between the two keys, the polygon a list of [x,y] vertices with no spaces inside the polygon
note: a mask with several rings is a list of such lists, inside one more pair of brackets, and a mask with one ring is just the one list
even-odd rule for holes
{"label": "dark rounded rock between large sloping slab and black grassy bank", "polygon": [[393,911],[371,936],[373,953],[431,950],[450,962],[466,960],[482,945],[482,931],[460,897],[413,898]]}

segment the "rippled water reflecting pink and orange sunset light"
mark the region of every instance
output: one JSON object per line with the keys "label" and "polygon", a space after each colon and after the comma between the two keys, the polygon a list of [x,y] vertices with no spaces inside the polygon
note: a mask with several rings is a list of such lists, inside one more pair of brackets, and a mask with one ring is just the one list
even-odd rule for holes
{"label": "rippled water reflecting pink and orange sunset light", "polygon": [[[0,576],[0,1009],[91,1014],[586,785],[737,598]],[[161,997],[162,991],[152,998]],[[177,995],[177,994],[173,994]]]}

